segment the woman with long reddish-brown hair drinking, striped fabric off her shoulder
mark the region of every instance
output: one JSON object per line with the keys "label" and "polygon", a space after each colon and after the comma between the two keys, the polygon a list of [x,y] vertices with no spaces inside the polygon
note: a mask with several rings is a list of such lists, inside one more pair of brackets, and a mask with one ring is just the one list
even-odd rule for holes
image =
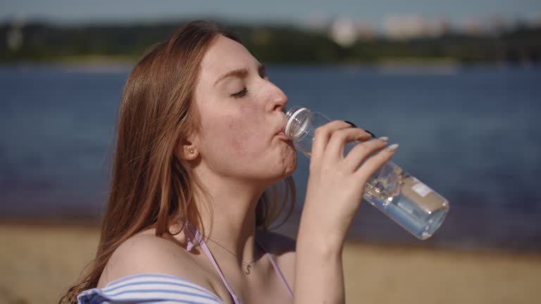
{"label": "woman with long reddish-brown hair drinking, striped fabric off her shoulder", "polygon": [[319,128],[297,241],[268,232],[294,198],[286,103],[216,25],[155,46],[125,86],[97,257],[61,303],[343,303],[344,238],[394,151],[346,122]]}

